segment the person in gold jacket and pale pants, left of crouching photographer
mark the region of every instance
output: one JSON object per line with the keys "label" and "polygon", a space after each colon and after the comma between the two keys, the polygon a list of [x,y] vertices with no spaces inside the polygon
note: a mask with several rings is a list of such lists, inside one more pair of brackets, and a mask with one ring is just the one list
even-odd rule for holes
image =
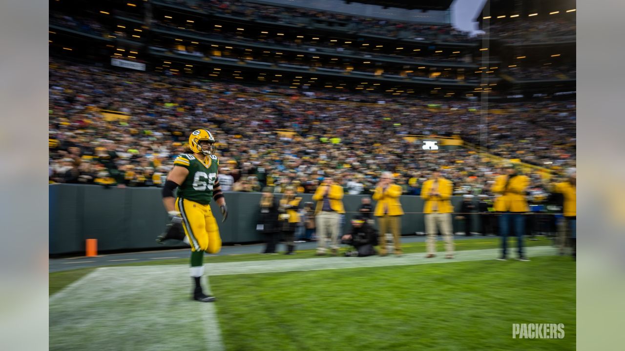
{"label": "person in gold jacket and pale pants, left of crouching photographer", "polygon": [[316,255],[326,254],[326,237],[328,234],[331,238],[332,255],[336,256],[338,253],[339,220],[341,214],[345,213],[342,199],[343,187],[335,184],[331,177],[324,178],[322,184],[317,187],[316,192],[312,195],[312,200],[317,202],[315,210],[317,224]]}

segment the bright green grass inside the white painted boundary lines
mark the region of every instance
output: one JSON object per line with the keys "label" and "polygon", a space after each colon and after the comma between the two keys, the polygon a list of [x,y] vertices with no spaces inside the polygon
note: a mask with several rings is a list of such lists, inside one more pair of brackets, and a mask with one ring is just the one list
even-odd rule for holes
{"label": "bright green grass inside the white painted boundary lines", "polygon": [[[211,277],[227,350],[574,350],[569,257]],[[512,339],[563,323],[564,339]]]}

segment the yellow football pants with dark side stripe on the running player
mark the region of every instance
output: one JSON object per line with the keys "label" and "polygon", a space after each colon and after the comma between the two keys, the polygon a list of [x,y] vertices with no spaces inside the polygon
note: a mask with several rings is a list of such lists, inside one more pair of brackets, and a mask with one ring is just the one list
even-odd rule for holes
{"label": "yellow football pants with dark side stripe on the running player", "polygon": [[184,234],[189,239],[192,251],[206,251],[216,254],[221,250],[221,237],[217,221],[212,215],[211,205],[176,199],[176,210],[183,216]]}

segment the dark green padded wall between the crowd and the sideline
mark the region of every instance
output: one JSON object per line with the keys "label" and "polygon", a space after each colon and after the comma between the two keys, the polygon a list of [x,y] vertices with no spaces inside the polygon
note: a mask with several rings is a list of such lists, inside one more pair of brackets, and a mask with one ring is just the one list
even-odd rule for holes
{"label": "dark green padded wall between the crowd and the sideline", "polygon": [[[280,195],[278,195],[280,196]],[[300,194],[303,202],[312,201],[312,194]],[[348,212],[356,212],[361,198],[366,195],[345,195],[343,204]],[[219,208],[211,208],[224,244],[260,242],[256,232],[260,193],[226,192],[228,219],[221,223]],[[452,204],[458,208],[462,197],[454,196]],[[418,196],[402,196],[404,212],[422,212],[423,200]],[[373,204],[375,205],[375,203]],[[349,229],[349,220],[355,214],[347,213],[343,230]],[[159,245],[154,239],[168,222],[161,189],[158,188],[104,188],[100,185],[49,185],[49,253],[73,254],[84,252],[85,239],[98,239],[98,250],[142,250],[184,247],[183,244]],[[479,228],[479,215],[473,215],[473,230]],[[464,224],[454,219],[454,232],[464,230]],[[424,232],[423,214],[402,216],[402,234]]]}

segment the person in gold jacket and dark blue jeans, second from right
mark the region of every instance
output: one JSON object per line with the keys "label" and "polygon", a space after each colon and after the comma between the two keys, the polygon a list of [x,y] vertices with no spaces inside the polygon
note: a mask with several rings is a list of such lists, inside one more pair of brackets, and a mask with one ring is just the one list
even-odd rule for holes
{"label": "person in gold jacket and dark blue jeans, second from right", "polygon": [[492,185],[492,192],[496,194],[494,207],[499,212],[499,233],[501,234],[501,257],[507,259],[507,236],[510,226],[514,228],[517,237],[517,252],[519,260],[529,261],[523,251],[523,234],[525,232],[525,213],[529,212],[525,191],[529,185],[529,178],[522,175],[517,167],[508,167],[507,174],[499,175]]}

